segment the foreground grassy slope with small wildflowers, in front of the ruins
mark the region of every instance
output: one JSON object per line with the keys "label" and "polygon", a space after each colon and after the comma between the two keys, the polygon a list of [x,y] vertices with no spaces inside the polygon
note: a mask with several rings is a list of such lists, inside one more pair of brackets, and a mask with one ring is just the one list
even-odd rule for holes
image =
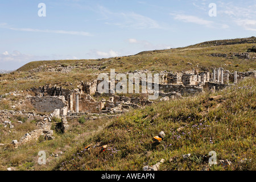
{"label": "foreground grassy slope with small wildflowers, in front of the ruins", "polygon": [[[160,170],[256,169],[255,78],[217,93],[160,102],[113,119],[100,133],[67,152],[55,170],[142,170],[165,159]],[[152,119],[155,115],[158,118]],[[164,131],[155,143],[152,137]],[[90,143],[94,146],[85,149]],[[182,155],[191,154],[187,159]],[[223,166],[219,160],[232,164]]]}

